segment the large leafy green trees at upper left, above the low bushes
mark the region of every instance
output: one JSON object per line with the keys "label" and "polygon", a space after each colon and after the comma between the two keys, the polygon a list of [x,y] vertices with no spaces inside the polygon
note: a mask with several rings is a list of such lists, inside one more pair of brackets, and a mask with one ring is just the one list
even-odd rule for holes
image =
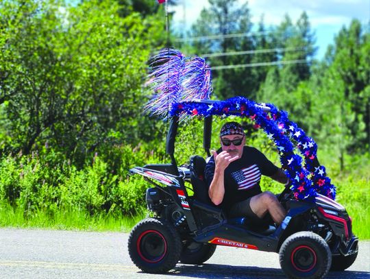
{"label": "large leafy green trees at upper left, above the low bushes", "polygon": [[116,131],[137,142],[131,127],[145,122],[136,104],[156,26],[145,30],[136,13],[119,17],[111,1],[37,3],[0,5],[4,151],[46,144],[81,165]]}

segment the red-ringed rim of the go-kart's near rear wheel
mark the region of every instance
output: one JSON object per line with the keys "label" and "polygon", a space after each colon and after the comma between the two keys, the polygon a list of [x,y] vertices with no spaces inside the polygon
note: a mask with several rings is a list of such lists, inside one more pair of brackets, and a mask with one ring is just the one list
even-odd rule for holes
{"label": "red-ringed rim of the go-kart's near rear wheel", "polygon": [[158,263],[167,253],[167,241],[156,230],[146,230],[138,237],[136,250],[147,263]]}

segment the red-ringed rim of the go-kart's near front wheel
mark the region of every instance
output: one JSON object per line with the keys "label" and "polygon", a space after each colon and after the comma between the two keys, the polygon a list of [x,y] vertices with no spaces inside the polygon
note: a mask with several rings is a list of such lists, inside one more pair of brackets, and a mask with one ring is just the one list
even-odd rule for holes
{"label": "red-ringed rim of the go-kart's near front wheel", "polygon": [[291,263],[301,272],[311,271],[317,263],[316,252],[307,245],[300,245],[291,254]]}

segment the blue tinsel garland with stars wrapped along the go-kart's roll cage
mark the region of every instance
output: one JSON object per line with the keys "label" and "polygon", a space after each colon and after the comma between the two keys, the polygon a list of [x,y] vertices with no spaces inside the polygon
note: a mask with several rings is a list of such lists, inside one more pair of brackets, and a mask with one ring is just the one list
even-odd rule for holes
{"label": "blue tinsel garland with stars wrapped along the go-kart's roll cage", "polygon": [[[183,119],[186,116],[208,117],[210,115],[249,117],[255,128],[262,128],[275,143],[280,155],[282,169],[291,180],[291,189],[295,199],[309,199],[317,193],[335,199],[335,186],[326,176],[325,167],[317,160],[317,144],[306,136],[304,130],[288,119],[288,113],[278,110],[273,104],[260,105],[245,97],[233,97],[225,101],[181,101],[173,104],[171,116]],[[295,141],[302,158],[295,154]]]}

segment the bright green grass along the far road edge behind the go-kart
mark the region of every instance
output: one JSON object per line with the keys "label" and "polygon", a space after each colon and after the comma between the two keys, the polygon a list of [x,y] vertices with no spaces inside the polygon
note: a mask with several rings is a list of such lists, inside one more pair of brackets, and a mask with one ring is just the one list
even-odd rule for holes
{"label": "bright green grass along the far road edge behind the go-kart", "polygon": [[[366,179],[335,183],[336,201],[345,206],[352,218],[352,230],[360,240],[370,239],[369,182]],[[280,187],[281,188],[281,187]],[[274,193],[277,187],[269,189]],[[280,189],[281,190],[281,189]],[[15,228],[43,228],[51,230],[86,230],[130,232],[138,221],[145,218],[146,211],[127,217],[99,214],[90,216],[78,210],[59,210],[53,215],[45,210],[25,215],[21,208],[0,206],[0,226]]]}

